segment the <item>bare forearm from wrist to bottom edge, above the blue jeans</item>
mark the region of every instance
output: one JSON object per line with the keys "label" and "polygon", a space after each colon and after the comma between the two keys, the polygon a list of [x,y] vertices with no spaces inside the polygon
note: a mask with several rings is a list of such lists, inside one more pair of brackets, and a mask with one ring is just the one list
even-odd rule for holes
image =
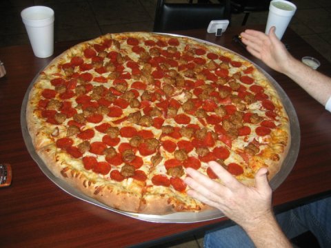
{"label": "bare forearm from wrist to bottom edge, above the blue jeans", "polygon": [[292,247],[272,213],[270,213],[270,216],[261,218],[258,225],[243,227],[243,229],[245,229],[257,248]]}

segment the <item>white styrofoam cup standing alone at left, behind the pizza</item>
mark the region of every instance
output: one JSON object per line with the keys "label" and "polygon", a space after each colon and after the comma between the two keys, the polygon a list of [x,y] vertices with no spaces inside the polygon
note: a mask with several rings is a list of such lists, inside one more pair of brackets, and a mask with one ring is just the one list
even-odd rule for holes
{"label": "white styrofoam cup standing alone at left, behind the pizza", "polygon": [[21,17],[34,56],[47,58],[54,52],[54,11],[46,6],[32,6],[22,10]]}

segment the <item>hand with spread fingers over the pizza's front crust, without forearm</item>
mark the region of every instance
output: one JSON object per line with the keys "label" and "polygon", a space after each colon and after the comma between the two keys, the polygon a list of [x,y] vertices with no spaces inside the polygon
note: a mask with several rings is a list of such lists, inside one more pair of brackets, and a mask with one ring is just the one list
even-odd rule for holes
{"label": "hand with spread fingers over the pizza's front crust, without forearm", "polygon": [[210,162],[209,166],[223,185],[195,169],[187,168],[189,176],[185,178],[185,183],[191,188],[187,192],[189,196],[216,207],[246,230],[273,218],[272,189],[266,176],[268,169],[259,169],[255,176],[255,187],[248,187],[218,163]]}

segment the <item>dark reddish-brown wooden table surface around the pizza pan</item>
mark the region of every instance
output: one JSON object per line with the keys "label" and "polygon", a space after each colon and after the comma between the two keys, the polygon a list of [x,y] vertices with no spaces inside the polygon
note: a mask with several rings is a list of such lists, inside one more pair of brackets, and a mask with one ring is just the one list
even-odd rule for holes
{"label": "dark reddish-brown wooden table surface around the pizza pan", "polygon": [[[263,30],[263,27],[253,27]],[[331,114],[286,76],[270,70],[232,41],[243,28],[228,28],[221,37],[205,30],[178,32],[229,48],[254,61],[283,87],[301,127],[301,147],[294,169],[274,192],[277,211],[331,194]],[[314,56],[318,69],[330,76],[331,63],[288,29],[283,42],[297,58]],[[12,165],[10,187],[0,189],[2,247],[128,247],[148,246],[215,226],[227,218],[201,223],[148,223],[91,205],[63,192],[32,160],[23,142],[20,112],[23,96],[34,76],[55,56],[77,42],[55,44],[54,55],[39,59],[30,45],[0,48],[7,74],[0,79],[0,162]]]}

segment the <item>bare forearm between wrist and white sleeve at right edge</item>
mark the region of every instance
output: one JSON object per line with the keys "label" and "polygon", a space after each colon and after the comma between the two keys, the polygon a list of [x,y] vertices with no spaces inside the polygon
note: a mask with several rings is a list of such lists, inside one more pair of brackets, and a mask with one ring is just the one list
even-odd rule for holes
{"label": "bare forearm between wrist and white sleeve at right edge", "polygon": [[282,70],[283,74],[299,84],[322,105],[331,96],[331,79],[316,70],[309,68],[297,59],[291,58]]}

